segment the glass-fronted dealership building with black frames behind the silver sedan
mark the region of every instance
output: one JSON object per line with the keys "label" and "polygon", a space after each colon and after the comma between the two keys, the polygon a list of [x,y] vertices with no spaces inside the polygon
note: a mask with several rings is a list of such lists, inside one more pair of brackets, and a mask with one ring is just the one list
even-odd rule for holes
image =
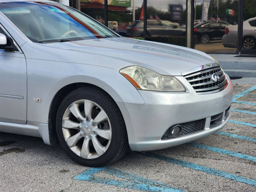
{"label": "glass-fronted dealership building with black frames behind the silver sedan", "polygon": [[230,76],[256,77],[256,0],[55,1],[122,36],[200,50]]}

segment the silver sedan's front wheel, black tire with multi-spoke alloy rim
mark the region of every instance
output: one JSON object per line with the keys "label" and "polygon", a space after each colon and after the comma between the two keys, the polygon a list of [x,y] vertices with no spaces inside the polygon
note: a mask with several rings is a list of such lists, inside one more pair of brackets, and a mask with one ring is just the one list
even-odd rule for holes
{"label": "silver sedan's front wheel, black tire with multi-spoke alloy rim", "polygon": [[128,149],[120,109],[106,92],[94,86],[78,88],[64,98],[56,116],[56,132],[66,154],[84,166],[113,163]]}

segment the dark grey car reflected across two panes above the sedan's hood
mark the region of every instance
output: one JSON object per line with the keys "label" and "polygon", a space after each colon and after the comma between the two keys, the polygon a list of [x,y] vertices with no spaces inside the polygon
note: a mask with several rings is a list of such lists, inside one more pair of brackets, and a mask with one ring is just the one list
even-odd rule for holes
{"label": "dark grey car reflected across two panes above the sedan's hood", "polygon": [[[127,36],[143,36],[143,20],[134,21],[127,28]],[[147,36],[185,36],[186,29],[173,22],[147,20]]]}

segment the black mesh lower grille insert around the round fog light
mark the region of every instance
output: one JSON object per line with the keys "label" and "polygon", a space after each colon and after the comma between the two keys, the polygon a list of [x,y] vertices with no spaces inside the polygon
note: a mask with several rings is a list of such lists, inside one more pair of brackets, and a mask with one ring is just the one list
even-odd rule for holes
{"label": "black mesh lower grille insert around the round fog light", "polygon": [[[204,126],[205,126],[205,120],[206,119],[204,118],[204,119],[200,119],[200,120],[196,120],[196,121],[190,121],[190,122],[179,124],[182,127],[182,129],[181,129],[180,134],[178,135],[178,137],[188,135],[188,134],[192,134],[192,133],[196,133],[196,132],[199,132],[199,131],[203,131]],[[161,138],[162,140],[163,139],[170,139],[170,137],[167,134],[167,131],[162,136],[162,138]]]}

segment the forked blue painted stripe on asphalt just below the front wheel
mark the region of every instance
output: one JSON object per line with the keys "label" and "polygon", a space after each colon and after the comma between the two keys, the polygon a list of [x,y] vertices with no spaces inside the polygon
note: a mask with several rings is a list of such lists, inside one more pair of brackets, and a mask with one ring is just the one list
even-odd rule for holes
{"label": "forked blue painted stripe on asphalt just below the front wheel", "polygon": [[[94,177],[93,175],[96,174],[99,171],[106,172],[108,174],[111,174],[113,176],[117,176],[119,178],[123,178],[128,181],[117,181],[117,180],[111,180],[111,179],[105,179],[100,177]],[[140,176],[136,176],[134,174],[130,174],[127,172],[123,172],[121,170],[117,170],[115,168],[110,167],[101,167],[101,168],[89,168],[85,172],[77,175],[74,177],[76,180],[83,180],[88,181],[92,183],[100,183],[100,184],[106,184],[106,185],[112,185],[122,188],[130,188],[130,189],[137,189],[142,191],[152,191],[152,192],[185,192],[186,190],[181,190],[179,188],[175,188],[172,186],[168,186],[165,184],[162,184],[160,182],[152,181]]]}

